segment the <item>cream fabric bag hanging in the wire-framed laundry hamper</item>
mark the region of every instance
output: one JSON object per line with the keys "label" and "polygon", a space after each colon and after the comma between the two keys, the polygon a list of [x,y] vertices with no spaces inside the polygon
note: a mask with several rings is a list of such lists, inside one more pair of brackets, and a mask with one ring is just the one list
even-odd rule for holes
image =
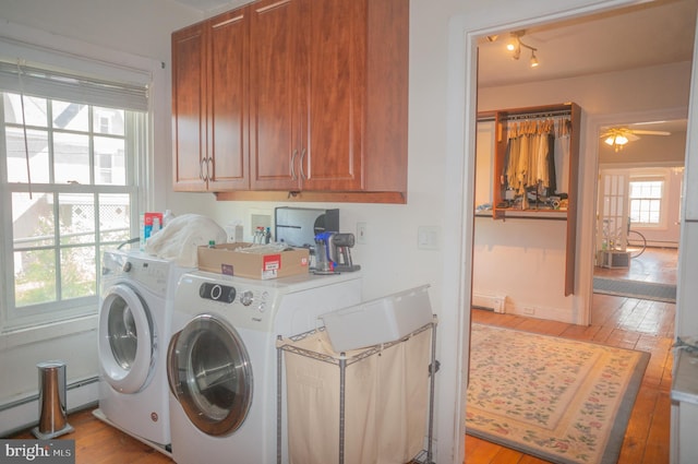
{"label": "cream fabric bag hanging in the wire-framed laundry hamper", "polygon": [[[293,346],[328,355],[326,332]],[[352,358],[365,349],[347,352]],[[424,444],[431,330],[346,368],[345,463],[404,464]],[[339,460],[339,365],[285,352],[290,464]]]}

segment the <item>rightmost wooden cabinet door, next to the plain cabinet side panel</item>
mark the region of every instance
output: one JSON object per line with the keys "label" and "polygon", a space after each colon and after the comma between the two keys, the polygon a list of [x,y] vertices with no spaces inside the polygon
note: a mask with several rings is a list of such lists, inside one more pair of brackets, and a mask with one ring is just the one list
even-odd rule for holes
{"label": "rightmost wooden cabinet door, next to the plain cabinet side panel", "polygon": [[361,190],[366,1],[304,1],[303,190]]}

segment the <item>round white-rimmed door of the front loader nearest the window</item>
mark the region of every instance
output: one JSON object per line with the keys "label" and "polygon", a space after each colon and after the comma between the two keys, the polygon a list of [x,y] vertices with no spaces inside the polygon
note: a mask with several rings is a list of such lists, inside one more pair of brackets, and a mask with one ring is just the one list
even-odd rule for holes
{"label": "round white-rimmed door of the front loader nearest the window", "polygon": [[121,393],[147,385],[155,364],[151,311],[125,284],[110,287],[99,310],[99,362],[104,379]]}

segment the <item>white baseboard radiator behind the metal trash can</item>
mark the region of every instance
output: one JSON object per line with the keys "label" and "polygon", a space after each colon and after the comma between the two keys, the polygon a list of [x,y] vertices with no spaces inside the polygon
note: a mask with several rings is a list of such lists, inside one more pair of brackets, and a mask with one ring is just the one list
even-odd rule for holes
{"label": "white baseboard radiator behind the metal trash can", "polygon": [[[65,385],[65,405],[69,413],[97,405],[99,400],[99,378],[93,377]],[[39,395],[34,394],[0,405],[0,437],[8,437],[26,430],[39,421]]]}

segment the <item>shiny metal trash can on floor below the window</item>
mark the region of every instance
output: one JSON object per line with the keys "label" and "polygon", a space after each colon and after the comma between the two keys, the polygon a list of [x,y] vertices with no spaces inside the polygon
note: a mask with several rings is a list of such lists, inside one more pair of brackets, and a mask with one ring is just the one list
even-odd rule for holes
{"label": "shiny metal trash can on floor below the window", "polygon": [[72,432],[65,403],[65,362],[46,361],[36,367],[39,370],[39,425],[32,433],[39,440],[50,440]]}

